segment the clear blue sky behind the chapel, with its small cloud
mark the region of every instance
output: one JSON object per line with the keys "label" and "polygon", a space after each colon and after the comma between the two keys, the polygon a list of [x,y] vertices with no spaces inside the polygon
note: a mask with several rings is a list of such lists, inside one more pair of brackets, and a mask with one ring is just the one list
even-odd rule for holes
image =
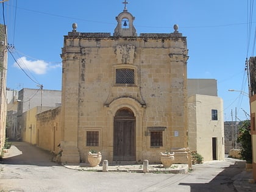
{"label": "clear blue sky behind the chapel, with its small cloud", "polygon": [[[77,23],[79,32],[111,32],[115,17],[123,11],[123,0],[18,1],[4,3],[0,23],[7,25],[9,54],[7,87],[61,90],[60,54],[63,35]],[[188,78],[216,79],[218,96],[224,100],[224,121],[247,119],[246,57],[254,55],[255,20],[251,2],[241,0],[128,0],[140,33],[171,33],[173,25],[187,37]],[[2,5],[0,7],[2,13]],[[251,16],[250,16],[251,15]],[[3,19],[4,18],[4,19]],[[250,20],[252,18],[252,20]],[[249,21],[252,21],[250,23]],[[15,65],[15,57],[27,75]],[[27,77],[29,76],[29,77]],[[244,91],[230,92],[229,89]],[[244,111],[246,113],[244,113]]]}

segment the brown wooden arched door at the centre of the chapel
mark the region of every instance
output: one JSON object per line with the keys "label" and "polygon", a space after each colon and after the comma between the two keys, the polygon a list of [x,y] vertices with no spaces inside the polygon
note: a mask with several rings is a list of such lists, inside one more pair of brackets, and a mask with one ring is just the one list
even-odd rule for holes
{"label": "brown wooden arched door at the centre of the chapel", "polygon": [[120,108],[114,117],[114,161],[135,161],[135,116],[129,108]]}

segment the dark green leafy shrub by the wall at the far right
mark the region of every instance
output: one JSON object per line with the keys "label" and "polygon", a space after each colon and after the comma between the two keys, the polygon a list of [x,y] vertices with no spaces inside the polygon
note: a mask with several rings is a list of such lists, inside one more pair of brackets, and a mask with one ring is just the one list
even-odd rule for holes
{"label": "dark green leafy shrub by the wall at the far right", "polygon": [[237,143],[241,144],[241,157],[246,160],[246,166],[249,168],[252,165],[252,137],[249,120],[243,121],[239,127]]}

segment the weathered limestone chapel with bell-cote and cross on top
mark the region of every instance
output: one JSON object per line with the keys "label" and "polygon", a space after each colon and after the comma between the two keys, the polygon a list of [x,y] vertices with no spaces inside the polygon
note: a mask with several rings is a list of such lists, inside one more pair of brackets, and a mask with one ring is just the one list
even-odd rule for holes
{"label": "weathered limestone chapel with bell-cote and cross on top", "polygon": [[187,38],[140,34],[127,11],[110,33],[73,31],[62,48],[61,161],[87,162],[90,149],[109,162],[160,162],[187,148]]}

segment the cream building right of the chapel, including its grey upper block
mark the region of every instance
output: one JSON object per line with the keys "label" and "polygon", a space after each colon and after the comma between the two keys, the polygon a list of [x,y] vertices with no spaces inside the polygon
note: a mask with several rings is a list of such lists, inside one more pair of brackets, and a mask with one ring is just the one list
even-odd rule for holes
{"label": "cream building right of the chapel, including its grey upper block", "polygon": [[215,79],[188,79],[188,146],[205,162],[224,160],[223,101]]}

